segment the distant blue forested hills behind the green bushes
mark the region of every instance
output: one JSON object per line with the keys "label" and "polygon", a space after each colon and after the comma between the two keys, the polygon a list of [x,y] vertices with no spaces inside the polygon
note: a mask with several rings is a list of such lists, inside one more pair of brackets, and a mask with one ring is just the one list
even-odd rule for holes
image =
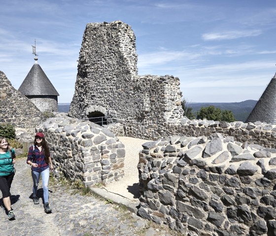
{"label": "distant blue forested hills behind the green bushes", "polygon": [[188,102],[187,106],[193,108],[193,112],[199,111],[202,106],[213,105],[221,110],[231,110],[237,121],[244,122],[257,101],[246,100],[241,102]]}

